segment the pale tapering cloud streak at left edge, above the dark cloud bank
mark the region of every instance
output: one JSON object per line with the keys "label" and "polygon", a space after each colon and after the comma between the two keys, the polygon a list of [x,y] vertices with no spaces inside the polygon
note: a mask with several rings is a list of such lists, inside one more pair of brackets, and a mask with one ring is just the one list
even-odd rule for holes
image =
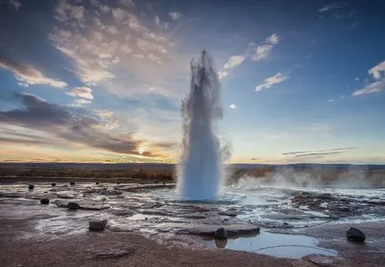
{"label": "pale tapering cloud streak at left edge, above the dark cloud bank", "polygon": [[53,87],[63,88],[67,83],[45,77],[39,70],[30,65],[24,65],[17,61],[10,60],[0,55],[0,67],[9,70],[19,81],[18,85],[28,87],[28,85],[51,85]]}

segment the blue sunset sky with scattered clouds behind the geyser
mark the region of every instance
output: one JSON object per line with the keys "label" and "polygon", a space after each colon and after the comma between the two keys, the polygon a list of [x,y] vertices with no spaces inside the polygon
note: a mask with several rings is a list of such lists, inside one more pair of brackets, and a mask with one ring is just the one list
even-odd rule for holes
{"label": "blue sunset sky with scattered clouds behind the geyser", "polygon": [[178,162],[190,60],[230,162],[385,164],[383,1],[0,1],[0,161]]}

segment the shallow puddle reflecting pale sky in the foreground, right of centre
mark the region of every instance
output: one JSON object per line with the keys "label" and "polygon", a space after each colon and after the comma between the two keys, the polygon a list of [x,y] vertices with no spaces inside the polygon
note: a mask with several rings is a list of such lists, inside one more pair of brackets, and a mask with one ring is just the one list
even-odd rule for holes
{"label": "shallow puddle reflecting pale sky in the foreground, right of centre", "polygon": [[203,239],[202,244],[210,248],[228,248],[244,250],[275,257],[299,259],[305,255],[318,254],[336,256],[336,250],[320,248],[318,240],[304,235],[282,235],[261,232],[253,237],[239,237],[236,239],[217,240]]}

